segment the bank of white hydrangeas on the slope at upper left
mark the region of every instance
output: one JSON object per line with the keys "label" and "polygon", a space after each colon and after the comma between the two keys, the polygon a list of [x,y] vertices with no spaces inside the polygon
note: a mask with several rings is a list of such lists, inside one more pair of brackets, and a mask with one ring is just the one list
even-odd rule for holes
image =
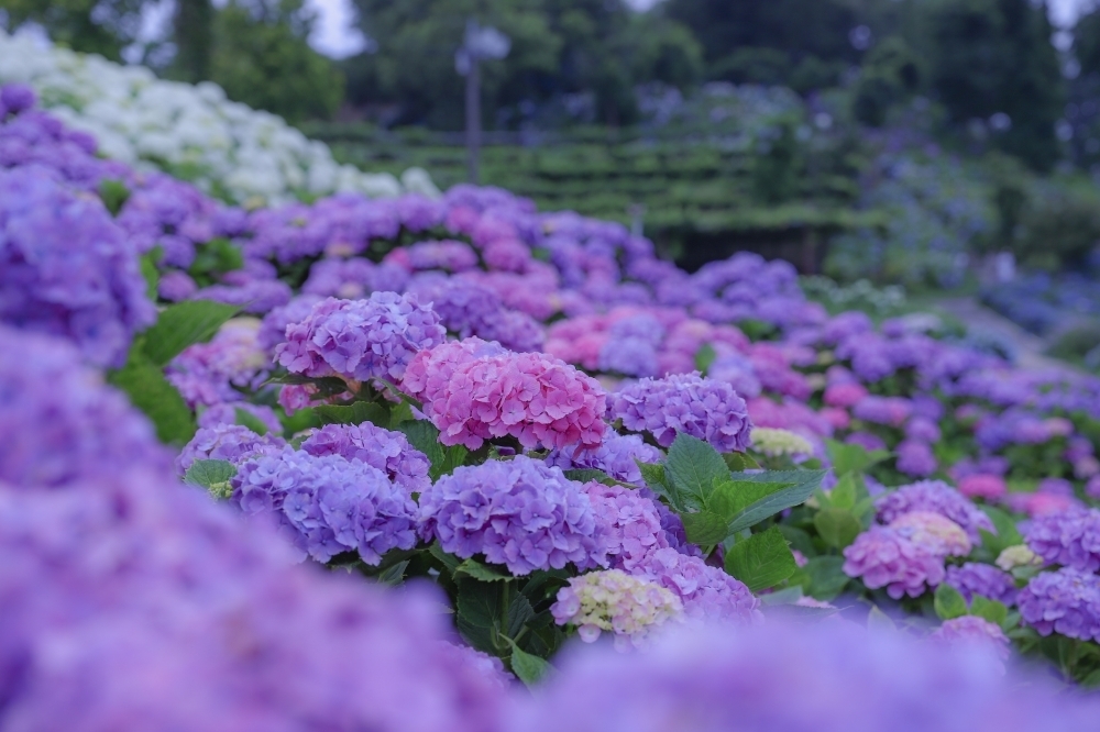
{"label": "bank of white hydrangeas on the slope at upper left", "polygon": [[43,45],[0,29],[0,84],[30,85],[42,106],[99,141],[100,152],[141,170],[193,170],[191,181],[237,203],[278,204],[301,192],[354,191],[373,198],[406,190],[438,197],[419,168],[402,181],[340,166],[328,146],[282,118],[230,101],[215,84],[157,79],[143,66]]}

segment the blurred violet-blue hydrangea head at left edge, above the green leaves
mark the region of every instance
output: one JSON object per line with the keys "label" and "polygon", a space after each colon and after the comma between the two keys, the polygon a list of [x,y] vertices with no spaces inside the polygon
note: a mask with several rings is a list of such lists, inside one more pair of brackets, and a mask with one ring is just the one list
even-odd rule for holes
{"label": "blurred violet-blue hydrangea head at left edge, above the green leaves", "polygon": [[154,320],[138,252],[98,199],[41,167],[0,170],[0,322],[119,367]]}

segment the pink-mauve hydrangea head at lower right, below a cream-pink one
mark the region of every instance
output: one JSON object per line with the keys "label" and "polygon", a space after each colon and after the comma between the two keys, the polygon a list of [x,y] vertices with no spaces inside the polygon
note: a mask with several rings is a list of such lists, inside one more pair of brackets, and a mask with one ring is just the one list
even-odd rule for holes
{"label": "pink-mauve hydrangea head at lower right, below a cream-pink one", "polygon": [[889,526],[871,526],[844,550],[844,573],[895,600],[919,597],[944,580],[943,556]]}

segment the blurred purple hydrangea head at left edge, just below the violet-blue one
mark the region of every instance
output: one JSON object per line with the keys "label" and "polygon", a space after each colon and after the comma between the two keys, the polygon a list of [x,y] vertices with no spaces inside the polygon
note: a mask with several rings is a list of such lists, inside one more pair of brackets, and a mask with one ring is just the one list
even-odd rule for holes
{"label": "blurred purple hydrangea head at left edge, just below the violet-blue one", "polygon": [[61,339],[0,325],[0,483],[61,486],[170,456],[121,393]]}

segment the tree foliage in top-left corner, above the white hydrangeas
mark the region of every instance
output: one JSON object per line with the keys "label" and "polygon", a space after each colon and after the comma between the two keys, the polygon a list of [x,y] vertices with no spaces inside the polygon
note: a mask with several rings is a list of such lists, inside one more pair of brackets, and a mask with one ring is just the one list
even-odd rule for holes
{"label": "tree foliage in top-left corner, above the white hydrangeas", "polygon": [[8,26],[31,21],[42,25],[50,37],[82,53],[120,60],[122,49],[141,30],[144,0],[2,0]]}

